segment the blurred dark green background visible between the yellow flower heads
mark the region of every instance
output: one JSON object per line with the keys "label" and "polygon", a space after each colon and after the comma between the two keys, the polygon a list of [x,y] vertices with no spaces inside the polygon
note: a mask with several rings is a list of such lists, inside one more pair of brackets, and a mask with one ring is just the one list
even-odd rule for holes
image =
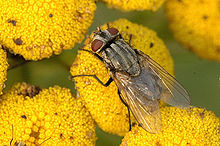
{"label": "blurred dark green background visible between the yellow flower heads", "polygon": [[[184,49],[173,38],[168,28],[163,7],[155,13],[150,11],[121,12],[110,9],[103,3],[97,3],[94,23],[88,34],[97,26],[119,18],[126,18],[156,31],[171,52],[175,64],[175,76],[190,93],[192,105],[206,108],[220,116],[220,62],[200,59],[192,52]],[[75,92],[74,83],[68,79],[70,76],[69,67],[80,46],[82,44],[75,46],[72,50],[63,51],[59,56],[30,62],[10,70],[6,87],[9,88],[16,82],[25,81],[41,88],[60,85]],[[99,128],[97,128],[97,135],[98,146],[114,146],[121,143],[122,137],[105,133]]]}

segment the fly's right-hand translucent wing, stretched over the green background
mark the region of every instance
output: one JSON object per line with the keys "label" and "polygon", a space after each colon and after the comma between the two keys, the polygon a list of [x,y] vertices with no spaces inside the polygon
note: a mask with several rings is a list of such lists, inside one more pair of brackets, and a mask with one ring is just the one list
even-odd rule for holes
{"label": "fly's right-hand translucent wing, stretched over the green background", "polygon": [[145,55],[140,50],[135,50],[139,56],[140,64],[148,66],[162,83],[160,99],[172,106],[187,108],[190,106],[190,98],[183,86],[171,76],[163,67]]}

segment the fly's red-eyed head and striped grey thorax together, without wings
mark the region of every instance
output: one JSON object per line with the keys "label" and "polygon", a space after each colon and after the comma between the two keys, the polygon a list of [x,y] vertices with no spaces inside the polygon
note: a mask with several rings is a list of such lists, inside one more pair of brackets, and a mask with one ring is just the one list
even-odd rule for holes
{"label": "fly's red-eyed head and striped grey thorax together, without wings", "polygon": [[91,44],[92,50],[101,52],[103,61],[111,71],[140,74],[140,65],[135,51],[120,36],[115,28],[98,31]]}

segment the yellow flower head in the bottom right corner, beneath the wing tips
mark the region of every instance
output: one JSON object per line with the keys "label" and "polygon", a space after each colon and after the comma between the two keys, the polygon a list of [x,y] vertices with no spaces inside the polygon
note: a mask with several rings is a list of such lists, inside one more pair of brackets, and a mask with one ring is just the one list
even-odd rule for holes
{"label": "yellow flower head in the bottom right corner, beneath the wing tips", "polygon": [[204,145],[220,144],[220,119],[211,111],[202,108],[187,110],[176,107],[161,109],[163,129],[150,134],[141,127],[134,127],[122,140],[121,146],[145,145]]}

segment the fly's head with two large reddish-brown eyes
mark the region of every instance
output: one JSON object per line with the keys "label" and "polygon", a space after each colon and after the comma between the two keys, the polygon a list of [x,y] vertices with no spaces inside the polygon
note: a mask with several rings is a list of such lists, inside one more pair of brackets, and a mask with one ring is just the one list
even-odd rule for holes
{"label": "fly's head with two large reddish-brown eyes", "polygon": [[111,43],[119,36],[119,31],[116,28],[108,28],[106,30],[98,29],[95,33],[93,41],[91,43],[92,51],[95,53],[100,52],[107,44]]}

